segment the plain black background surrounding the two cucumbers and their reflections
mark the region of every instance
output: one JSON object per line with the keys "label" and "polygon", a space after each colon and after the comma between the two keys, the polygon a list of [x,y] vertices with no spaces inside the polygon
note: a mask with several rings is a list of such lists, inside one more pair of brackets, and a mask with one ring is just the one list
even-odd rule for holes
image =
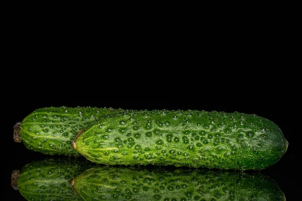
{"label": "plain black background surrounding the two cucumbers and their reflections", "polygon": [[[84,16],[69,6],[63,14],[54,12],[57,8],[47,12],[48,6],[6,8],[2,200],[24,200],[10,186],[12,170],[44,158],[14,143],[14,124],[51,106],[238,111],[265,117],[281,128],[289,146],[278,163],[261,172],[277,181],[287,200],[297,200],[300,139],[294,128],[300,119],[295,116],[300,78],[294,61],[300,57],[295,51],[299,32],[294,12],[287,17],[283,5],[274,6],[250,13],[242,7],[247,16],[234,12],[234,19],[228,18],[229,10],[222,18],[214,13],[203,19],[191,10],[183,19],[175,11],[160,27],[161,17],[152,26],[153,20],[136,22],[137,16],[104,14],[100,19],[90,9]],[[64,16],[67,10],[74,14]]]}

